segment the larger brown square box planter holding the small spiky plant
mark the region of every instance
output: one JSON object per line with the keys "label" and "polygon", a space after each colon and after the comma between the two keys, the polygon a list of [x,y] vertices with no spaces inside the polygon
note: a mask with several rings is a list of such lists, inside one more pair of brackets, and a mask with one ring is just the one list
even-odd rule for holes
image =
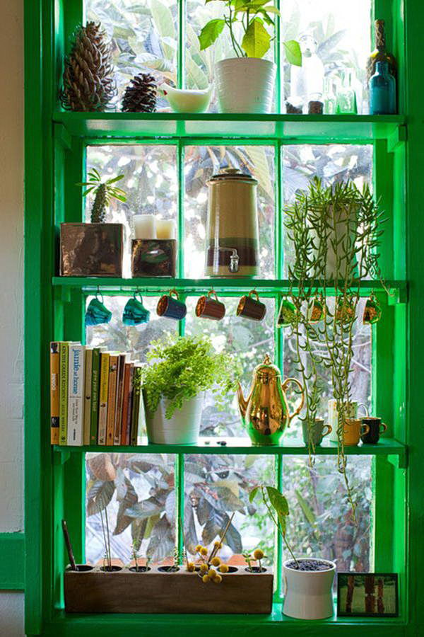
{"label": "larger brown square box planter holding the small spiky plant", "polygon": [[122,224],[61,224],[61,277],[122,277]]}

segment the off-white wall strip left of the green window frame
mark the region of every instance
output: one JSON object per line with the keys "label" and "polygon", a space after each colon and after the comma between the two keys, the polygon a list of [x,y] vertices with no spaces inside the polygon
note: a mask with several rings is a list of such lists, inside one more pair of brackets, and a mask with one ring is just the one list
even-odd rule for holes
{"label": "off-white wall strip left of the green window frame", "polygon": [[[23,6],[0,0],[0,7],[0,532],[18,532],[23,530]],[[23,593],[0,591],[0,635],[23,634]]]}

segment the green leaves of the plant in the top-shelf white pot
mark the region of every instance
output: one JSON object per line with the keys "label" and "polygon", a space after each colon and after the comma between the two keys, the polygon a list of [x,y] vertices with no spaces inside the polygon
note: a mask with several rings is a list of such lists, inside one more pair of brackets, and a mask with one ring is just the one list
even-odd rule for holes
{"label": "green leaves of the plant in the top-shelf white pot", "polygon": [[[206,3],[211,0],[206,0]],[[202,28],[199,35],[200,50],[207,49],[228,28],[232,48],[237,57],[264,57],[271,46],[271,37],[265,24],[273,27],[271,17],[279,16],[275,6],[270,6],[271,0],[222,0],[226,13],[223,18],[213,18]],[[235,28],[241,27],[242,40],[237,41]],[[299,42],[288,40],[283,42],[285,57],[290,64],[302,66],[302,52]]]}

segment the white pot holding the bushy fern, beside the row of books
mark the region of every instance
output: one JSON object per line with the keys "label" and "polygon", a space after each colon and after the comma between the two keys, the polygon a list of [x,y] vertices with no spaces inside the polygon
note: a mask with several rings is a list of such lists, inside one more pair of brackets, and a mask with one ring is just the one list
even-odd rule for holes
{"label": "white pot holding the bushy fern, beside the row of books", "polygon": [[203,392],[188,401],[181,409],[176,409],[171,418],[165,418],[169,404],[162,398],[155,412],[146,407],[146,429],[148,442],[153,444],[196,444],[199,437]]}

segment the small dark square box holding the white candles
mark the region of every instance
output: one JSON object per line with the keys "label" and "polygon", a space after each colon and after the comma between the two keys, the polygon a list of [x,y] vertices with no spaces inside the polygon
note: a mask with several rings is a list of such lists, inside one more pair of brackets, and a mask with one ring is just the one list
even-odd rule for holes
{"label": "small dark square box holding the white candles", "polygon": [[133,239],[131,272],[133,277],[175,277],[176,239]]}

